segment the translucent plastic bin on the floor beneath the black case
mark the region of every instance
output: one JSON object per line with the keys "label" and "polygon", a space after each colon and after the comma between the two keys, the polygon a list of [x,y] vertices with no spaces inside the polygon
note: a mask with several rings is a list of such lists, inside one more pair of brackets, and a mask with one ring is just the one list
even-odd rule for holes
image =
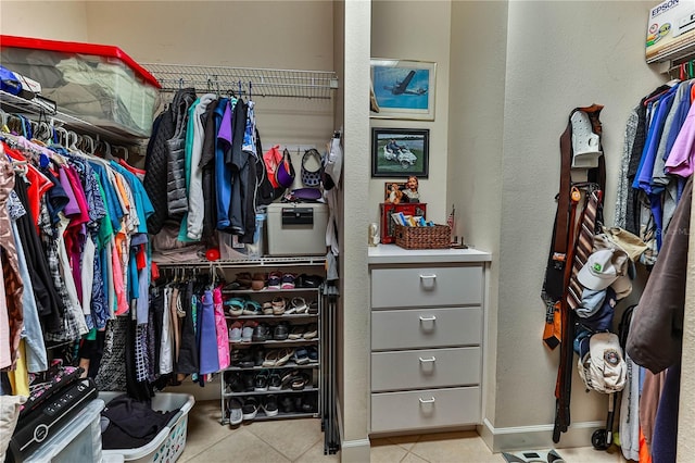
{"label": "translucent plastic bin on the floor beneath the black case", "polygon": [[104,401],[94,399],[67,420],[65,425],[51,438],[41,443],[24,460],[25,463],[75,463],[100,462],[101,411]]}

